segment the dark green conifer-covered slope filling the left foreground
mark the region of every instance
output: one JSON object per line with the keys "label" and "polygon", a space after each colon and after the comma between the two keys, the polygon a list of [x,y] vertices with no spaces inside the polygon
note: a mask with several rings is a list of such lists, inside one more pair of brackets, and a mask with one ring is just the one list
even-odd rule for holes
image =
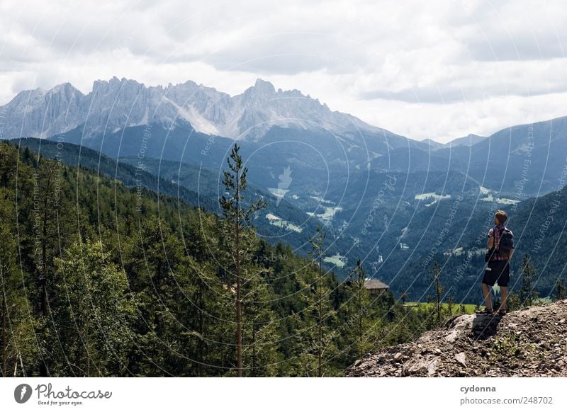
{"label": "dark green conifer-covered slope filling the left foreground", "polygon": [[341,376],[434,324],[388,292],[370,296],[359,266],[340,283],[322,270],[322,231],[312,258],[253,227],[235,249],[230,214],[10,142],[0,173],[6,376],[235,376],[239,324],[243,376]]}

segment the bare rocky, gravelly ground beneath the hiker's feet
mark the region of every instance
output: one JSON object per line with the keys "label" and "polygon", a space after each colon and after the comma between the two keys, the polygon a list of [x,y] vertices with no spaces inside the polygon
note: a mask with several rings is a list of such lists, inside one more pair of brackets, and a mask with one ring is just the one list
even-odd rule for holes
{"label": "bare rocky, gravelly ground beneath the hiker's feet", "polygon": [[567,377],[567,300],[505,316],[455,316],[366,355],[347,377]]}

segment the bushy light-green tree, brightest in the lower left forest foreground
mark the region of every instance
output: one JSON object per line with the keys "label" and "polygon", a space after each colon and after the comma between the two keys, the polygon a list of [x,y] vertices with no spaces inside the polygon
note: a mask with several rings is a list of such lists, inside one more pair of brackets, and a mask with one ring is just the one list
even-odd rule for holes
{"label": "bushy light-green tree, brightest in the lower left forest foreground", "polygon": [[59,373],[123,375],[135,316],[124,271],[110,262],[100,241],[87,241],[55,259],[55,275],[60,282],[53,316],[66,364]]}

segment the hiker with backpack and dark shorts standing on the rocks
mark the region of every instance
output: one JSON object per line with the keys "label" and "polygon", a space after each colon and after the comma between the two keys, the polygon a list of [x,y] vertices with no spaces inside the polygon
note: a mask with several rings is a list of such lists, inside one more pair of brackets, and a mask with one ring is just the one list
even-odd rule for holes
{"label": "hiker with backpack and dark shorts standing on the rocks", "polygon": [[498,210],[494,215],[495,227],[488,231],[488,250],[486,251],[485,261],[487,262],[482,290],[486,308],[483,313],[493,314],[492,299],[490,298],[490,287],[496,283],[500,287],[500,308],[498,314],[506,314],[506,299],[508,297],[508,282],[510,282],[510,260],[514,254],[513,234],[510,229],[504,226],[508,215],[504,210]]}

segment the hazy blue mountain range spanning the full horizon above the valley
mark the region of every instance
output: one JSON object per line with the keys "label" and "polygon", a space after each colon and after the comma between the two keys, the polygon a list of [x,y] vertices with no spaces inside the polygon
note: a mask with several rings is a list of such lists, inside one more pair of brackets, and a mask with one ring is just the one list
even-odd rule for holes
{"label": "hazy blue mountain range spanning the full horizon above the valley", "polygon": [[521,195],[538,195],[556,188],[567,158],[567,118],[447,144],[417,141],[262,79],[230,96],[193,81],[146,87],[113,77],[95,81],[86,95],[69,83],[22,91],[0,111],[4,138],[57,137],[115,158],[136,156],[144,147],[149,157],[216,168],[237,139],[256,156],[264,188],[274,181],[262,176],[278,176],[286,167],[322,179],[325,185],[315,188],[320,192],[335,176],[369,170],[456,170],[499,192],[513,193],[521,183]]}

